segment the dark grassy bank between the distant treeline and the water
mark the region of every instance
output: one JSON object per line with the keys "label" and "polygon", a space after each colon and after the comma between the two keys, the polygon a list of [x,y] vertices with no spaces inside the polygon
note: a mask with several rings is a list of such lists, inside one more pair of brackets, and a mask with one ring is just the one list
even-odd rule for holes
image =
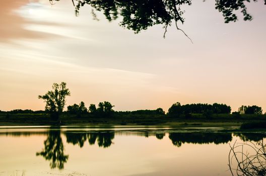
{"label": "dark grassy bank between the distant treeline and the water", "polygon": [[[243,123],[266,122],[265,115],[243,115],[235,118],[231,114],[213,115],[206,118],[202,114],[193,114],[186,118],[169,117],[166,115],[119,115],[109,118],[95,117],[92,115],[63,114],[60,116],[61,125],[168,125],[177,127],[226,127],[241,126]],[[48,114],[0,114],[0,125],[54,125]]]}

